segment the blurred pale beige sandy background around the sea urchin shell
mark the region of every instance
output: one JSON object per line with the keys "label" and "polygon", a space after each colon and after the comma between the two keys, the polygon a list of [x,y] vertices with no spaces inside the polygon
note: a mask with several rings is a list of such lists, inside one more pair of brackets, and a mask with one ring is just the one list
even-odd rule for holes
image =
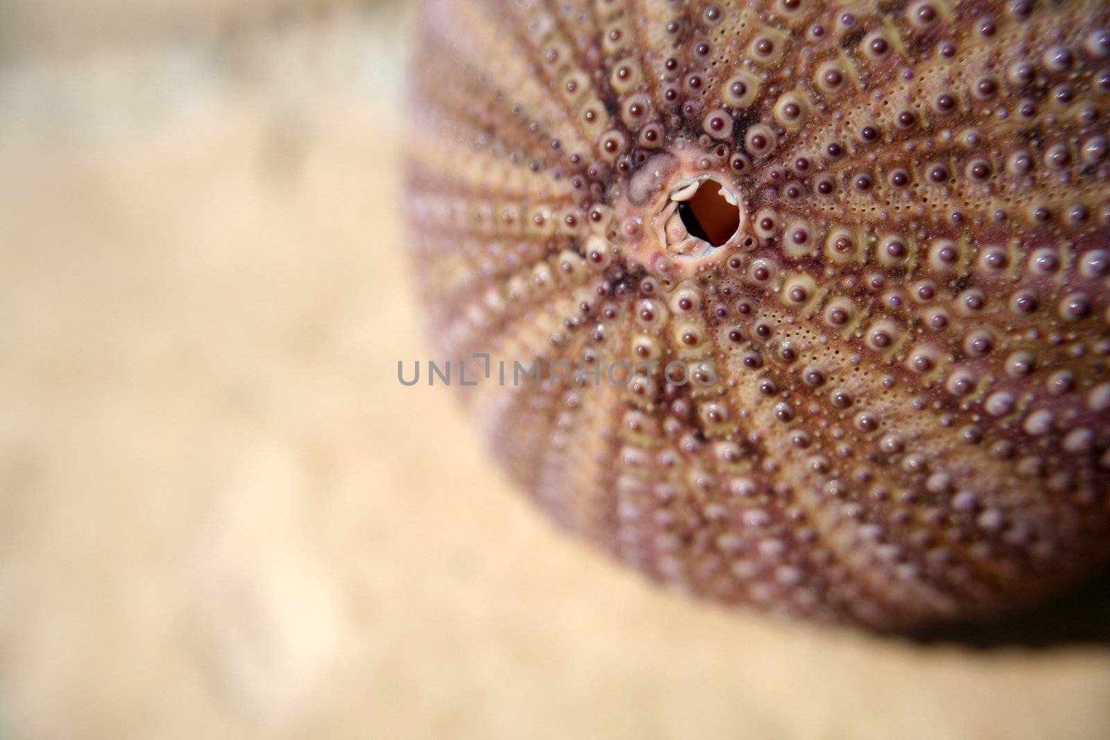
{"label": "blurred pale beige sandy background around the sea urchin shell", "polygon": [[1107,640],[688,604],[398,386],[404,17],[0,2],[0,737],[1110,736]]}

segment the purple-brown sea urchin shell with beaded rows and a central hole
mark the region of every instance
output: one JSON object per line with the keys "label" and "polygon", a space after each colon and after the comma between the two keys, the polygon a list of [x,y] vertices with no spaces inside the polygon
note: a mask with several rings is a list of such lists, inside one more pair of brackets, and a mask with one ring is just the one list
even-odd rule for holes
{"label": "purple-brown sea urchin shell with beaded rows and a central hole", "polygon": [[1110,556],[1108,17],[426,2],[436,359],[544,509],[684,591],[879,628],[1045,598]]}

